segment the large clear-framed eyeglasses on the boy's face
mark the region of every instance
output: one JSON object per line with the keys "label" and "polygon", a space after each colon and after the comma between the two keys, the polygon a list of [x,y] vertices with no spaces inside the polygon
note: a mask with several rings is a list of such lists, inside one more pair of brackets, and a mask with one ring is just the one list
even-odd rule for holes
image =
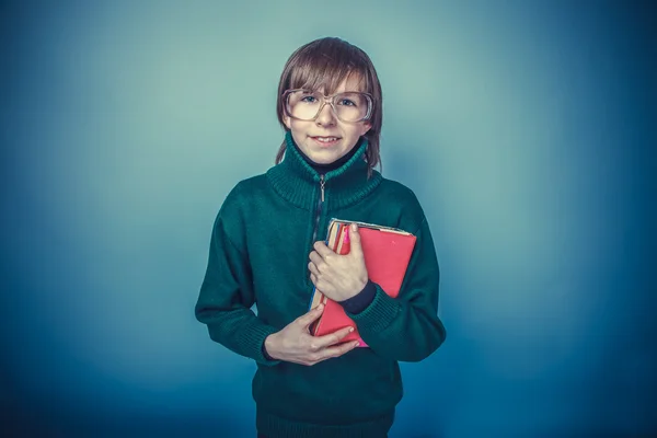
{"label": "large clear-framed eyeglasses on the boy's face", "polygon": [[287,90],[283,95],[285,113],[298,120],[314,120],[328,104],[333,114],[347,123],[362,122],[371,117],[372,96],[368,93],[346,92],[325,96],[310,90]]}

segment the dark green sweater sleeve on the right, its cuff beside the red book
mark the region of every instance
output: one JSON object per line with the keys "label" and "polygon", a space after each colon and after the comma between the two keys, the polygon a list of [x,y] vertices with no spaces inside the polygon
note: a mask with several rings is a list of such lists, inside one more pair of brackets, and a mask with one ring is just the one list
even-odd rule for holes
{"label": "dark green sweater sleeve on the right, its cuff beside the red book", "polygon": [[423,219],[404,283],[396,298],[376,285],[374,299],[361,312],[349,318],[369,347],[378,355],[419,361],[434,353],[446,337],[438,318],[439,268],[426,218]]}

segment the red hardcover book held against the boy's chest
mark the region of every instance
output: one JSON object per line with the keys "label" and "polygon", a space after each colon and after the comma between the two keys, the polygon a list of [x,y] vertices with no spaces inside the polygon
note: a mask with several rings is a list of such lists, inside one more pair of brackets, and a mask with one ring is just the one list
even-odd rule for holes
{"label": "red hardcover book held against the boy's chest", "polygon": [[[390,227],[332,219],[328,224],[326,245],[337,254],[349,253],[350,243],[345,242],[344,238],[350,223],[358,226],[369,279],[379,285],[387,295],[396,298],[413,254],[415,235]],[[315,288],[310,308],[314,309],[320,302],[324,303],[324,311],[311,326],[311,333],[314,336],[326,335],[353,326],[354,332],[344,337],[343,342],[359,341],[360,347],[367,347],[358,333],[356,323],[347,316],[342,306]]]}

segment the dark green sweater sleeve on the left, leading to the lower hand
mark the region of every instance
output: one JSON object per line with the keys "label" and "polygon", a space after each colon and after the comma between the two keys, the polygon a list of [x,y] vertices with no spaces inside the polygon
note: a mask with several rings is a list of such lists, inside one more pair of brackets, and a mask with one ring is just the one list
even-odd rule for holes
{"label": "dark green sweater sleeve on the left, leading to the lower hand", "polygon": [[195,307],[196,319],[206,324],[210,338],[230,350],[273,366],[264,355],[265,338],[277,330],[251,310],[255,302],[247,255],[231,241],[221,211],[215,221],[208,265]]}

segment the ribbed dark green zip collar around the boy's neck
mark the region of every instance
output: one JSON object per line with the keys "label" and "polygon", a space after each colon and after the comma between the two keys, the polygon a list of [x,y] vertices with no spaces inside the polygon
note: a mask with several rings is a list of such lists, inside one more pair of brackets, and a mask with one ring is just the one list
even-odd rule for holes
{"label": "ribbed dark green zip collar around the boy's neck", "polygon": [[285,140],[285,157],[269,169],[267,178],[276,193],[298,207],[315,208],[322,177],[327,210],[358,203],[381,183],[382,176],[377,171],[372,171],[368,178],[368,165],[364,159],[368,142],[365,138],[345,155],[346,162],[323,174],[303,158],[290,131],[286,132]]}

